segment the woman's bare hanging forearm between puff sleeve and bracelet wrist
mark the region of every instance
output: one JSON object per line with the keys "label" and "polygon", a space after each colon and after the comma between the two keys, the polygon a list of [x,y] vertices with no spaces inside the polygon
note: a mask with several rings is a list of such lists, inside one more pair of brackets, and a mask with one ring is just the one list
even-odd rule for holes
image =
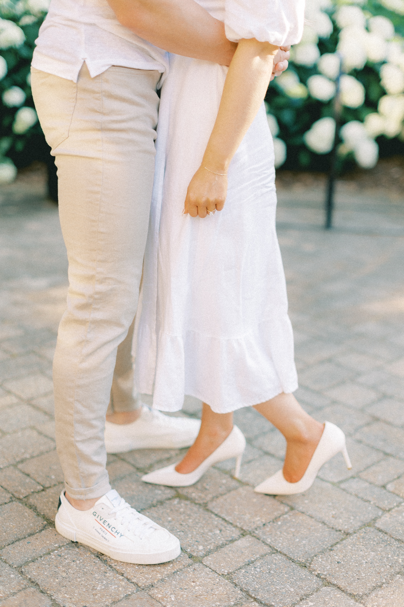
{"label": "woman's bare hanging forearm between puff sleeve and bracelet wrist", "polygon": [[240,40],[202,161],[211,171],[227,172],[265,97],[278,48],[254,38]]}

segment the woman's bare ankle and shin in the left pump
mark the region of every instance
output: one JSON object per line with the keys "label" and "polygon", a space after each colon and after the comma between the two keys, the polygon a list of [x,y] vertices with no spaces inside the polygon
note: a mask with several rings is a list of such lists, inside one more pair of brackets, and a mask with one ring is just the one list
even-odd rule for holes
{"label": "woman's bare ankle and shin in the left pump", "polygon": [[193,472],[219,447],[233,429],[233,413],[214,413],[205,402],[199,434],[184,459],[176,466],[181,474]]}

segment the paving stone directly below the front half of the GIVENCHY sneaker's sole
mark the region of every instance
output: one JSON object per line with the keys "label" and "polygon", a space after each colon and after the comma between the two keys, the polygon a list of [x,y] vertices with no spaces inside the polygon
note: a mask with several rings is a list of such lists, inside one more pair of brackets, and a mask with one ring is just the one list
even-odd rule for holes
{"label": "paving stone directly below the front half of the GIVENCHY sneaker's sole", "polygon": [[131,563],[121,563],[110,557],[101,557],[110,567],[113,567],[118,573],[124,575],[130,582],[137,584],[140,588],[147,588],[171,575],[175,571],[184,569],[192,565],[193,561],[185,552],[181,552],[179,557],[174,558],[169,563],[161,565],[132,565]]}

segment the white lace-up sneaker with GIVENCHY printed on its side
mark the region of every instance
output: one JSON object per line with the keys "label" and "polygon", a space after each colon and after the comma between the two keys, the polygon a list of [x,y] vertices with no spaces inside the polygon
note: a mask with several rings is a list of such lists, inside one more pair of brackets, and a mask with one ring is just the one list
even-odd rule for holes
{"label": "white lace-up sneaker with GIVENCHY printed on its side", "polygon": [[68,540],[79,541],[124,563],[167,563],[181,551],[174,535],[134,510],[114,489],[84,511],[71,506],[63,490],[55,526]]}

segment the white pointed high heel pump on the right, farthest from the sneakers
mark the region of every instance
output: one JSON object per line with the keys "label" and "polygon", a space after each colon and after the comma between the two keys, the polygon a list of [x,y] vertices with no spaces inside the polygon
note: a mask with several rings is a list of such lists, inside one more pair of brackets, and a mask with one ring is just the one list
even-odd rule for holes
{"label": "white pointed high heel pump on the right, farthest from the sneakers", "polygon": [[345,459],[346,467],[348,470],[351,470],[352,464],[346,450],[345,434],[338,426],[334,426],[331,422],[326,421],[320,442],[300,481],[288,483],[283,476],[282,470],[278,470],[274,475],[257,485],[254,491],[257,493],[267,493],[267,495],[293,495],[294,493],[302,493],[312,486],[323,464],[340,452]]}

